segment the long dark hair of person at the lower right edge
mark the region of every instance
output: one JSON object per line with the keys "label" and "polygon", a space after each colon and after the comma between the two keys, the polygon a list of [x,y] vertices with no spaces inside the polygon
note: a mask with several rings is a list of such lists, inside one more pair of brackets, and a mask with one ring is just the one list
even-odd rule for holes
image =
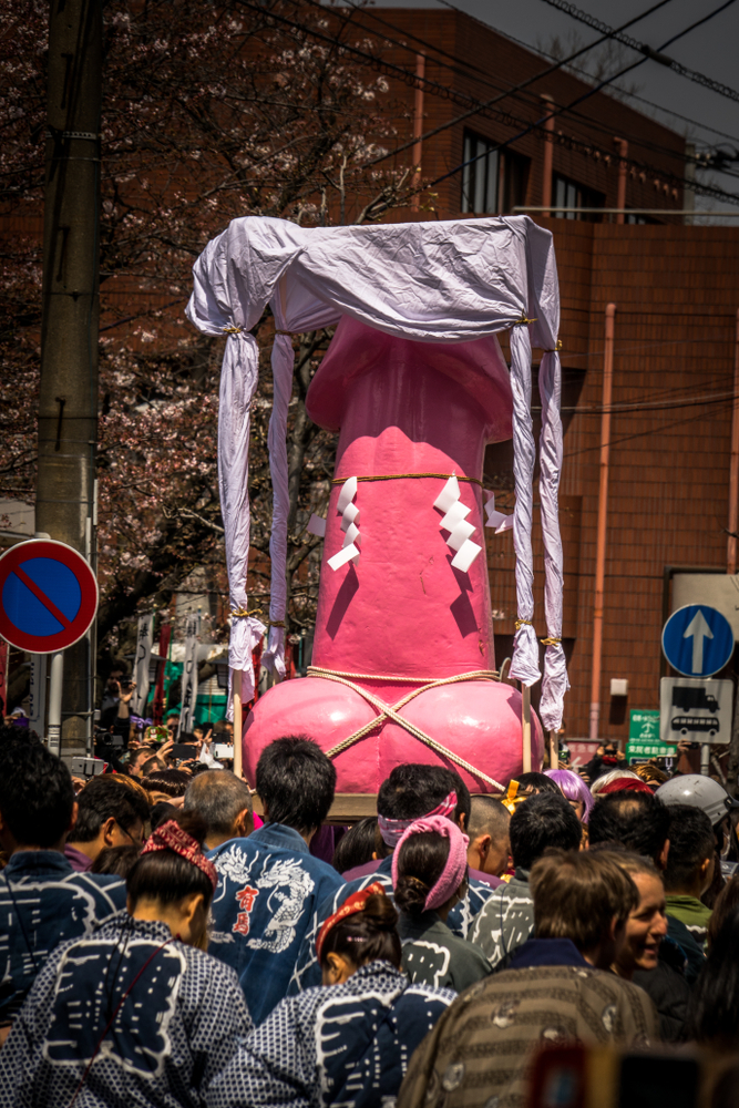
{"label": "long dark hair of person at the lower right edge", "polygon": [[714,937],[692,986],[687,1037],[720,1050],[739,1049],[739,907],[729,912]]}

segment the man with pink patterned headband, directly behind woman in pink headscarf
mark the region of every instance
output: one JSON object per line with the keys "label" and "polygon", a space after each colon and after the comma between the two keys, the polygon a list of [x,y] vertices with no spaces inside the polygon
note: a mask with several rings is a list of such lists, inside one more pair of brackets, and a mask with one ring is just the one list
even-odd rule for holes
{"label": "man with pink patterned headband, directly behind woman in pink headscarf", "polygon": [[[421,762],[401,762],[390,773],[377,797],[378,830],[382,849],[372,862],[358,865],[343,874],[347,881],[341,895],[357,892],[379,881],[389,896],[392,896],[392,852],[403,831],[414,820],[425,815],[445,815],[462,830],[470,823],[472,801],[470,790],[459,773],[443,766],[427,766]],[[455,935],[466,938],[478,912],[492,896],[494,890],[485,881],[470,871],[468,891],[462,901],[449,913],[448,924]],[[338,900],[331,895],[320,905],[317,926],[337,910]],[[315,944],[304,942],[295,973],[290,982],[291,995],[320,984],[320,972],[316,960]]]}

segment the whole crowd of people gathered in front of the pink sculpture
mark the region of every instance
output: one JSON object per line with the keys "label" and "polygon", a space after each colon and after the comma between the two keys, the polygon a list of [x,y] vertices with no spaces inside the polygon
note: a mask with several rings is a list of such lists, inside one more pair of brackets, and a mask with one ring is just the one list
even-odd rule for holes
{"label": "whole crowd of people gathered in front of the pink sculpture", "polygon": [[73,780],[0,729],[0,1108],[513,1108],[542,1048],[739,1053],[712,779],[403,763],[336,828],[308,739],[254,792],[171,750]]}

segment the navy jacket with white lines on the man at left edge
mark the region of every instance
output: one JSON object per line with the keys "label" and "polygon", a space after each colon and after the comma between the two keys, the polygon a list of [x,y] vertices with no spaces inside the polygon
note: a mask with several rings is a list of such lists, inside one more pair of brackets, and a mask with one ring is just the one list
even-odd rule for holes
{"label": "navy jacket with white lines on the man at left edge", "polygon": [[14,1018],[60,943],[123,907],[120,878],[75,873],[57,850],[17,851],[0,873],[0,1024]]}

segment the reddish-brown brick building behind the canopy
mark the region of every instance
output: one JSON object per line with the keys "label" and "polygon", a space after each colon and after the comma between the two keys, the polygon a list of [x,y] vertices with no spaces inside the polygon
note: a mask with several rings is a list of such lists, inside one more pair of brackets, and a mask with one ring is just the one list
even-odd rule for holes
{"label": "reddish-brown brick building behind the canopy", "polygon": [[[547,68],[541,57],[459,12],[373,9],[363,18],[372,34],[387,35],[383,57],[422,72],[428,82],[421,95],[393,81],[417,136],[461,115],[465,98],[469,107],[470,100],[487,102]],[[665,212],[534,216],[554,233],[562,295],[561,519],[572,683],[565,719],[575,739],[588,736],[604,314],[608,302],[616,305],[599,735],[625,740],[628,709],[659,706],[671,568],[726,572],[739,229],[691,226],[682,215],[668,215],[691,206],[682,188],[684,138],[604,93],[557,116],[551,135],[540,126],[495,153],[496,144],[544,114],[543,104],[572,104],[587,91],[583,81],[557,71],[424,140],[424,181],[489,153],[434,185],[437,197],[422,199],[410,217],[459,218],[548,204]],[[544,102],[544,95],[551,99]],[[402,132],[402,113],[397,126]],[[510,510],[510,443],[489,450],[485,470],[497,490],[496,505]],[[537,522],[535,550],[536,624],[543,634]],[[487,556],[500,665],[511,653],[515,618],[510,533],[489,538]],[[628,681],[627,697],[610,696],[612,678]]]}

